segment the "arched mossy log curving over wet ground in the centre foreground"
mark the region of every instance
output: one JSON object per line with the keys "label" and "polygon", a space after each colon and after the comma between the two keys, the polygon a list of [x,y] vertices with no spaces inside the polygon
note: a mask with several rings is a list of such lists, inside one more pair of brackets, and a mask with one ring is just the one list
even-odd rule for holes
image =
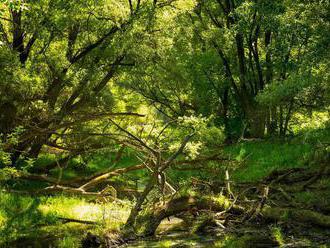
{"label": "arched mossy log curving over wet ground in the centre foreground", "polygon": [[152,236],[155,234],[161,221],[170,216],[177,215],[186,211],[210,210],[223,211],[230,207],[233,213],[243,213],[244,209],[240,206],[231,206],[231,203],[224,196],[221,197],[197,197],[182,196],[165,203],[159,203],[152,209],[137,219],[137,229],[141,230],[141,236]]}

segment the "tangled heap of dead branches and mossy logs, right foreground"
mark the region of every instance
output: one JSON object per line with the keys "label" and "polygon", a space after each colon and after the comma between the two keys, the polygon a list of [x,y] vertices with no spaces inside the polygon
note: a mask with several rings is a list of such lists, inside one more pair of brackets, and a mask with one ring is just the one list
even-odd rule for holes
{"label": "tangled heap of dead branches and mossy logs, right foreground", "polygon": [[[228,170],[222,182],[192,178],[191,188],[195,189],[195,194],[182,194],[178,191],[160,201],[149,200],[144,205],[144,211],[136,214],[133,222],[128,222],[128,229],[124,229],[124,238],[121,238],[127,241],[153,236],[159,224],[173,216],[190,221],[187,227],[193,226],[192,219],[199,222],[193,230],[197,232],[219,229],[233,232],[244,225],[256,223],[330,228],[329,207],[313,206],[295,199],[295,194],[300,192],[318,194],[322,190],[330,190],[320,183],[330,177],[329,161],[329,154],[326,154],[317,160],[318,166],[274,170],[263,180],[253,183],[231,181]],[[141,197],[145,200],[147,195],[145,190]],[[138,236],[136,232],[135,236],[132,234],[132,227],[135,231],[142,230]]]}

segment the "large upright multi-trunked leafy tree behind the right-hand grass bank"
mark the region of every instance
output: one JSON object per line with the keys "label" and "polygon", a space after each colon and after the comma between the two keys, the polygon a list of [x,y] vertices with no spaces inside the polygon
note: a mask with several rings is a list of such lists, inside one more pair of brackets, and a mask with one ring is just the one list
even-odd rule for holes
{"label": "large upright multi-trunked leafy tree behind the right-hand grass bank", "polygon": [[176,38],[163,59],[143,64],[152,77],[131,87],[167,115],[218,116],[229,139],[244,130],[255,138],[285,135],[303,95],[315,99],[310,93],[318,91],[326,98],[326,73],[316,68],[327,63],[329,44],[319,34],[328,28],[328,7],[322,1],[198,1],[194,12],[176,19],[184,28],[173,25]]}

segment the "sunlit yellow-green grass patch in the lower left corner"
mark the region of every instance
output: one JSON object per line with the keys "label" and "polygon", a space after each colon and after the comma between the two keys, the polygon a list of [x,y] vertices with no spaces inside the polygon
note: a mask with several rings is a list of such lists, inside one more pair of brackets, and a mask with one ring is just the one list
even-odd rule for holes
{"label": "sunlit yellow-green grass patch in the lower left corner", "polygon": [[[46,241],[51,238],[49,242],[55,242],[56,247],[78,247],[72,244],[77,244],[87,231],[118,230],[126,221],[129,209],[129,204],[98,204],[64,195],[32,198],[0,193],[0,247],[10,247],[15,240],[25,243],[40,237]],[[99,224],[63,224],[59,217]]]}

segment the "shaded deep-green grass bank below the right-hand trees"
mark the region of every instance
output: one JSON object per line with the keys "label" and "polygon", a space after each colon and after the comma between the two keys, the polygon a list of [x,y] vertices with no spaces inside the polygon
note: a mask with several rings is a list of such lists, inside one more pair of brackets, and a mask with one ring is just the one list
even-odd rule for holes
{"label": "shaded deep-green grass bank below the right-hand trees", "polygon": [[[259,181],[274,170],[318,166],[310,163],[320,145],[329,144],[330,128],[309,129],[295,137],[286,139],[244,140],[229,145],[221,152],[224,157],[236,161],[229,165],[231,180],[235,182]],[[330,150],[330,148],[329,148]],[[224,169],[228,163],[209,163],[210,171],[170,171],[170,178],[180,182],[190,181],[192,177],[204,180],[223,180]],[[217,172],[216,172],[217,171]]]}

